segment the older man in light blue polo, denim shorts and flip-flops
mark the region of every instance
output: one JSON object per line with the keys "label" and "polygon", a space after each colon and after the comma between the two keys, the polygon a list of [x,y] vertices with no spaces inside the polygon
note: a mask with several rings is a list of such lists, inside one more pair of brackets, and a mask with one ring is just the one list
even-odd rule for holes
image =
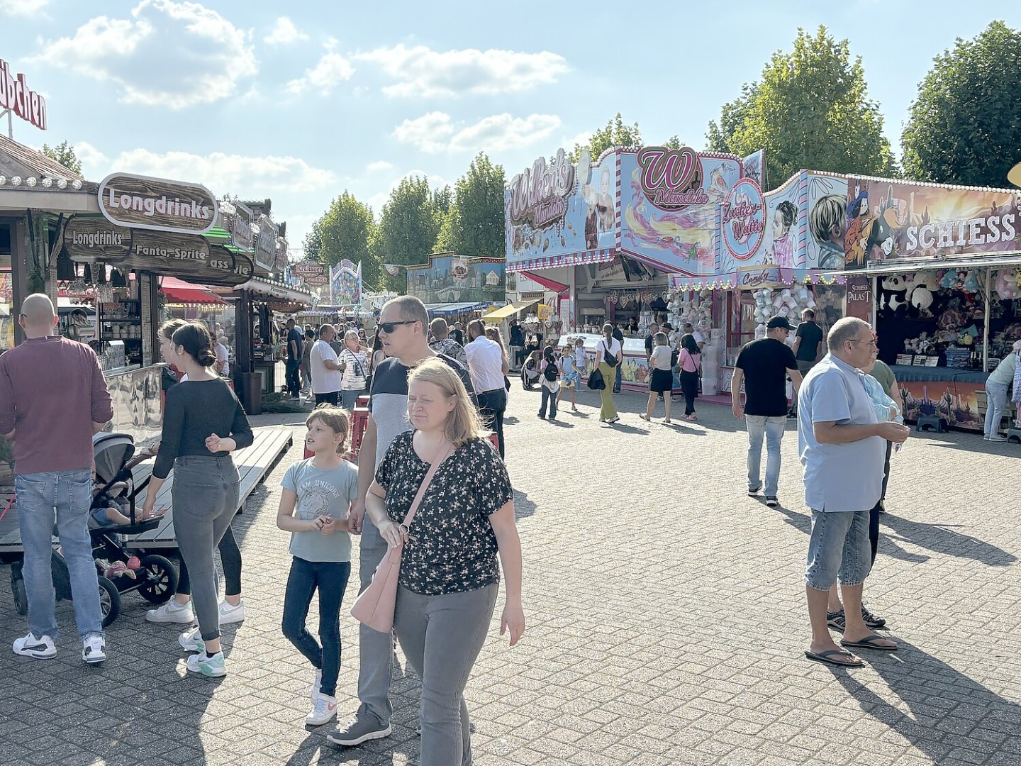
{"label": "older man in light blue polo, denim shorts and flip-flops", "polygon": [[[886,441],[901,443],[908,428],[878,423],[863,368],[877,346],[868,323],[839,320],[826,338],[829,353],[805,378],[797,397],[797,442],[805,467],[805,502],[812,509],[805,591],[812,623],[806,657],[861,667],[849,650],[893,652],[894,641],[873,633],[862,616],[862,589],[872,569],[870,514],[882,494]],[[876,516],[878,518],[878,516]],[[828,591],[839,579],[844,630],[840,649],[826,619]]]}

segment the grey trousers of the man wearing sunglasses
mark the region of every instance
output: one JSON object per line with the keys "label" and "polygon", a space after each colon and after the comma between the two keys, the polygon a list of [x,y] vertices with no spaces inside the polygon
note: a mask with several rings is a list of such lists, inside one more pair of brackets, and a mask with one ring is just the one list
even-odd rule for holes
{"label": "grey trousers of the man wearing sunglasses", "polygon": [[[360,593],[373,581],[376,567],[386,555],[386,540],[366,514],[359,543]],[[390,679],[393,675],[393,637],[358,623],[358,701],[384,726],[390,723]]]}

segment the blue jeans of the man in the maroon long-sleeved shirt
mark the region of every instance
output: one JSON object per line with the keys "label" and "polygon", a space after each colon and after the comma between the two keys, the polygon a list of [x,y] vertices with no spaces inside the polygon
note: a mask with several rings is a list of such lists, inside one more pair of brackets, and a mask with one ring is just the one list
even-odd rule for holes
{"label": "blue jeans of the man in the maroon long-sleeved shirt", "polygon": [[103,634],[99,581],[89,539],[92,471],[49,471],[14,477],[17,521],[25,546],[25,590],[29,629],[36,636],[56,637],[56,593],[53,590],[54,511],[60,547],[70,576],[75,622],[84,639]]}

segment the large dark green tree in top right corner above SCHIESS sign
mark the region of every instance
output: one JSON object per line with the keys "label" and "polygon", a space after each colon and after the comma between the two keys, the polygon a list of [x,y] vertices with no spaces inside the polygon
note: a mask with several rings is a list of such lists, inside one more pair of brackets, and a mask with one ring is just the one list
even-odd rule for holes
{"label": "large dark green tree in top right corner above SCHIESS sign", "polygon": [[1021,162],[1021,32],[992,21],[935,57],[901,144],[918,181],[1006,185]]}

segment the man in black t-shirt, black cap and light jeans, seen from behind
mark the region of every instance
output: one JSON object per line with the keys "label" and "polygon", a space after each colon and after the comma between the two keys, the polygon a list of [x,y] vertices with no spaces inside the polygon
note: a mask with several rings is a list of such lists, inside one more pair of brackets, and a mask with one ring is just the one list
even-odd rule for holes
{"label": "man in black t-shirt, black cap and light jeans, seen from behind", "polygon": [[[774,317],[766,325],[766,337],[746,343],[737,354],[730,396],[735,418],[744,418],[748,429],[748,496],[763,488],[760,479],[763,437],[766,437],[766,505],[774,508],[780,480],[780,440],[787,423],[787,376],[794,384],[794,397],[801,385],[794,352],[786,344],[794,328],[786,317]],[[741,383],[744,405],[741,405]]]}

